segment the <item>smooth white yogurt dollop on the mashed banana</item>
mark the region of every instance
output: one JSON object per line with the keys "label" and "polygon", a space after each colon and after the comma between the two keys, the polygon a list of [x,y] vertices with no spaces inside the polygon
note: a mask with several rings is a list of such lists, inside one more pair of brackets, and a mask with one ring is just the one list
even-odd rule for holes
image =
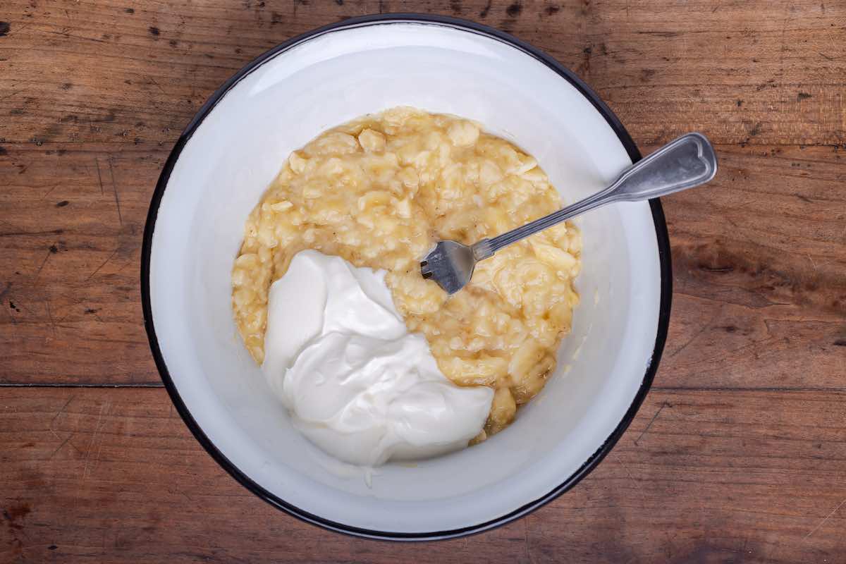
{"label": "smooth white yogurt dollop on the mashed banana", "polygon": [[384,278],[305,250],[273,283],[267,305],[267,380],[310,441],[361,466],[464,448],[493,399],[491,388],[442,375]]}

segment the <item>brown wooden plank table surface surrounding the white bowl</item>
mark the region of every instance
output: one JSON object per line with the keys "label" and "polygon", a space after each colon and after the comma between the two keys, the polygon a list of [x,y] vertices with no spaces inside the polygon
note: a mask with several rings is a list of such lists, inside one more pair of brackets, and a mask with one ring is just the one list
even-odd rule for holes
{"label": "brown wooden plank table surface surrounding the white bowl", "polygon": [[[664,201],[655,386],[569,494],[469,539],[300,523],[174,412],[141,321],[158,172],[218,85],[352,15],[474,19],[573,68],[648,153],[722,169]],[[0,561],[846,561],[846,3],[3,0]]]}

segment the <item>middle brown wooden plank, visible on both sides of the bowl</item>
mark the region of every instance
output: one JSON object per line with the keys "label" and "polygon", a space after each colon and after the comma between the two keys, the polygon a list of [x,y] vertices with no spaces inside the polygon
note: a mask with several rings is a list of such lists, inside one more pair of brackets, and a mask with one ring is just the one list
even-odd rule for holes
{"label": "middle brown wooden plank, visible on both sides of the bowl", "polygon": [[[718,152],[714,183],[664,200],[675,295],[656,386],[843,389],[846,151]],[[106,144],[0,157],[0,381],[159,381],[139,264],[165,158]]]}

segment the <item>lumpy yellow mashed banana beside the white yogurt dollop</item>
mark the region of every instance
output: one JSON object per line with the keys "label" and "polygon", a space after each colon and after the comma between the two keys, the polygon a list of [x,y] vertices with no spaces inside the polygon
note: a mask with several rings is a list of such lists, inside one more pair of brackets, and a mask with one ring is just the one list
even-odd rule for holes
{"label": "lumpy yellow mashed banana beside the white yogurt dollop", "polygon": [[407,107],[356,119],[291,153],[250,213],[232,273],[239,332],[261,364],[268,290],[302,249],[385,269],[443,374],[496,391],[484,440],[555,367],[579,302],[580,233],[568,222],[500,250],[449,298],[420,260],[438,240],[472,244],[559,207],[536,160],[476,123]]}

